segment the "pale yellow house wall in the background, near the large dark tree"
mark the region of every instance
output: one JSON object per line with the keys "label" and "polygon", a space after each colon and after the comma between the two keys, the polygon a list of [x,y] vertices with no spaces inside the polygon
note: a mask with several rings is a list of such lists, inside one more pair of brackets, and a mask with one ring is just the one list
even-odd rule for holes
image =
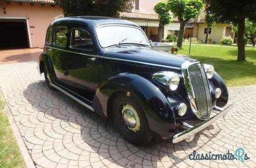
{"label": "pale yellow house wall in the background, near the large dark tree", "polygon": [[[229,23],[216,23],[211,27],[211,34],[209,34],[209,39],[211,42],[221,43],[221,39],[225,36],[226,27],[230,27]],[[205,23],[198,24],[198,39],[205,41],[204,28],[207,28]]]}

